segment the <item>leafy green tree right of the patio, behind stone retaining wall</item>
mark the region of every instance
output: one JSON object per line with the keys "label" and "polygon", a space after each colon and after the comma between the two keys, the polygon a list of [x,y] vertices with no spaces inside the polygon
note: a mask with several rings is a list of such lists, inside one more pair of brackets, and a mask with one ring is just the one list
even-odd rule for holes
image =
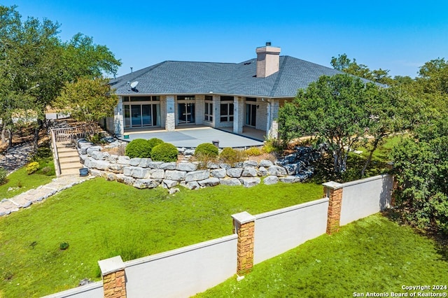
{"label": "leafy green tree right of the patio, behind stone retaining wall", "polygon": [[349,150],[365,137],[367,101],[378,86],[349,75],[321,76],[279,111],[281,139],[315,134],[328,144],[335,173],[346,171]]}

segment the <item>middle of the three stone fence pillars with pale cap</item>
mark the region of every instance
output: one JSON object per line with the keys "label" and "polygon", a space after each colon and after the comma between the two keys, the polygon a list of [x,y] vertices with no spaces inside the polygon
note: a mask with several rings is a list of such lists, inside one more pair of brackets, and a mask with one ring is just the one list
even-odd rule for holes
{"label": "middle of the three stone fence pillars with pale cap", "polygon": [[237,274],[243,276],[253,267],[255,216],[246,211],[232,215],[234,233],[238,234]]}

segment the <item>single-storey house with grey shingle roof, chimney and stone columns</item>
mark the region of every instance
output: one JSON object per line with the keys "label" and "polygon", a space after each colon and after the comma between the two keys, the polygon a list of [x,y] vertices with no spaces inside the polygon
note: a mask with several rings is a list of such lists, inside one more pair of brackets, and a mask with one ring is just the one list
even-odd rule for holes
{"label": "single-storey house with grey shingle roof, chimney and stone columns", "polygon": [[290,56],[266,43],[241,63],[165,61],[111,80],[119,96],[106,127],[130,129],[207,125],[244,135],[246,127],[277,137],[279,107],[300,88],[335,69]]}

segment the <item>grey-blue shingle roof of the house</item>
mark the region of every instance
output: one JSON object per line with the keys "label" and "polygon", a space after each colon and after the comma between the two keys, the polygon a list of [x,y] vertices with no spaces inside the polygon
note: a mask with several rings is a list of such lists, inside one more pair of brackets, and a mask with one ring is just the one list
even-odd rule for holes
{"label": "grey-blue shingle roof of the house", "polygon": [[[111,80],[119,95],[231,94],[248,97],[295,97],[320,76],[342,73],[290,56],[281,56],[279,71],[256,78],[256,59],[241,63],[165,61]],[[138,92],[129,82],[138,81]]]}

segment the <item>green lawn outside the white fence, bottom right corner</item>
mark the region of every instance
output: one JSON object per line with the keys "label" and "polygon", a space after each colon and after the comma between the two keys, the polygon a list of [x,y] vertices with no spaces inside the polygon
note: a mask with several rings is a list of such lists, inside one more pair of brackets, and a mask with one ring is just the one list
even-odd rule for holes
{"label": "green lawn outside the white fence, bottom right corner", "polygon": [[377,214],[257,264],[242,281],[230,278],[197,297],[391,296],[419,292],[402,285],[447,285],[447,276],[447,259],[433,241]]}

